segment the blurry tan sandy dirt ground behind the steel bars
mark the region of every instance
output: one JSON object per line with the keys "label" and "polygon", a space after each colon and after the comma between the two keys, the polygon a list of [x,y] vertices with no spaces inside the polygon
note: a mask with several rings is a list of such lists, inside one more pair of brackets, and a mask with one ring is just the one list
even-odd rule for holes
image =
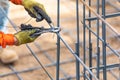
{"label": "blurry tan sandy dirt ground behind the steel bars", "polygon": [[[38,0],[45,5],[46,11],[51,16],[54,25],[57,25],[57,0]],[[70,47],[75,50],[76,43],[76,18],[75,18],[75,3],[74,0],[71,0],[69,4],[65,1],[61,1],[61,22],[60,26],[62,28],[61,36],[63,39],[70,45]],[[32,24],[34,26],[44,26],[49,27],[46,21],[35,22],[35,19],[32,19],[27,12],[24,10],[22,6],[16,6],[10,3],[10,14],[9,18],[12,22],[19,27],[21,23],[24,24]],[[66,7],[67,5],[67,7]],[[71,6],[72,5],[72,6]],[[82,8],[82,5],[80,5]],[[111,13],[110,10],[107,10],[108,13]],[[112,10],[113,12],[117,12],[116,10]],[[81,10],[82,12],[82,10]],[[68,15],[69,14],[69,15]],[[82,15],[80,14],[80,17]],[[107,21],[114,26],[114,28],[120,33],[120,17],[109,18]],[[8,23],[9,33],[15,33],[16,31],[12,28],[12,25]],[[82,24],[80,23],[80,26]],[[80,27],[81,28],[81,27]],[[17,28],[18,29],[18,28]],[[82,28],[81,28],[82,29]],[[94,28],[93,28],[94,29]],[[19,30],[19,29],[18,29]],[[82,33],[82,32],[81,32]],[[120,40],[116,37],[111,37],[114,35],[109,29],[107,29],[107,42],[112,46],[114,50],[120,50]],[[82,36],[82,34],[81,34]],[[94,41],[95,37],[93,37]],[[50,75],[56,79],[56,59],[57,59],[57,36],[55,34],[46,33],[41,35],[35,42],[28,44],[28,46],[32,49],[32,52],[36,54],[39,61],[45,66],[46,70],[50,73]],[[82,42],[82,40],[81,40]],[[94,46],[94,45],[93,45]],[[82,46],[81,46],[82,47]],[[26,45],[21,46],[10,46],[6,49],[13,49],[19,55],[19,60],[14,64],[5,65],[0,62],[0,75],[5,75],[0,77],[0,80],[50,80],[48,75],[41,68],[40,64],[37,62],[35,57],[31,54],[31,51],[26,47]],[[80,48],[82,52],[82,48]],[[96,48],[94,48],[96,50]],[[107,52],[110,50],[107,49]],[[119,53],[120,54],[120,53]],[[83,54],[81,54],[83,56]],[[74,77],[76,75],[76,64],[74,56],[68,51],[68,49],[61,42],[61,54],[60,54],[60,78],[64,79],[66,77],[73,77],[73,79],[65,79],[65,80],[75,80]],[[88,60],[87,60],[88,62]],[[93,59],[93,65],[96,65],[95,59]],[[116,64],[119,63],[118,57],[115,55],[107,56],[107,64]],[[81,70],[83,67],[80,67]],[[116,80],[115,77],[111,76],[111,71],[108,71],[108,80]],[[113,73],[118,74],[119,69],[112,70]],[[16,74],[15,74],[16,73]],[[81,71],[81,73],[83,73]],[[102,77],[102,73],[100,75]],[[21,79],[22,78],[22,79]],[[83,78],[81,78],[82,80]],[[101,79],[102,80],[102,79]]]}

